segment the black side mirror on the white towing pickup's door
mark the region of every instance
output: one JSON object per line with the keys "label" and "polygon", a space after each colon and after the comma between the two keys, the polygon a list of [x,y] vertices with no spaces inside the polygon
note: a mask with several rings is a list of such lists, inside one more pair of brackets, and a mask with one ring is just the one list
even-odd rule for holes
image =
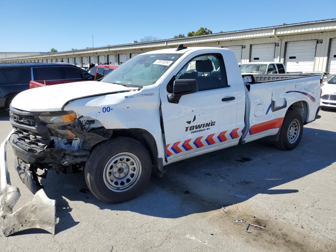
{"label": "black side mirror on the white towing pickup's door", "polygon": [[168,94],[170,103],[178,103],[182,95],[196,93],[198,91],[195,79],[177,79],[173,83],[173,94]]}

